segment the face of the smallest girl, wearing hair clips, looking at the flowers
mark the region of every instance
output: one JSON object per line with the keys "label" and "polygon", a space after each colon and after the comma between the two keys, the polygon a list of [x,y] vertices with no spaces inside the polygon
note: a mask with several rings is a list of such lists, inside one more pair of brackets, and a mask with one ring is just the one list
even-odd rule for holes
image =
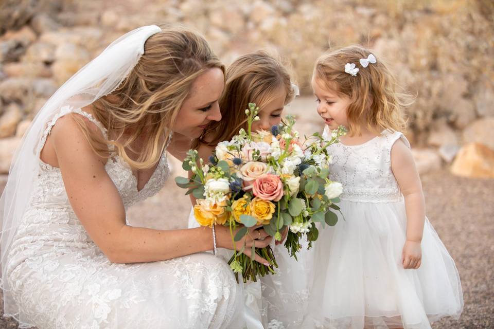
{"label": "face of the smallest girl, wearing hair clips, looking at the flowers", "polygon": [[323,80],[312,78],[312,89],[317,102],[317,113],[324,119],[330,130],[338,129],[339,125],[348,127],[347,109],[350,98],[338,95],[326,87]]}

